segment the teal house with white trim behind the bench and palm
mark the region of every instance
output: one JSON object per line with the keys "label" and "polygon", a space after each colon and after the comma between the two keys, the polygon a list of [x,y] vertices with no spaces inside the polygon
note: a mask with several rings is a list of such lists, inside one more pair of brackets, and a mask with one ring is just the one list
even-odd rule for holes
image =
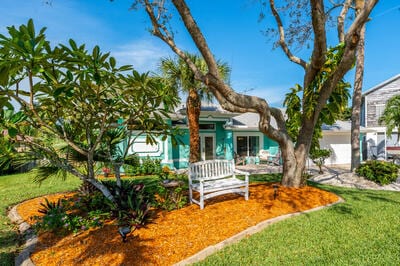
{"label": "teal house with white trim behind the bench and palm", "polygon": [[[180,144],[173,145],[171,137],[157,139],[154,145],[146,144],[145,136],[139,136],[129,153],[145,158],[160,159],[161,164],[173,169],[187,168],[189,163],[189,129],[186,109],[171,114],[170,123],[181,131]],[[258,163],[260,150],[271,155],[278,153],[278,144],[258,129],[258,114],[231,113],[219,106],[203,106],[200,113],[200,147],[202,160],[244,158],[247,163]]]}

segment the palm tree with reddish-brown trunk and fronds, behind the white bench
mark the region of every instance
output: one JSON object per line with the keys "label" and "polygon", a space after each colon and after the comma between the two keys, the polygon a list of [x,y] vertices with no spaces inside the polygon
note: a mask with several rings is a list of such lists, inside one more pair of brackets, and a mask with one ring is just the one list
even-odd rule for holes
{"label": "palm tree with reddish-brown trunk and fronds, behind the white bench", "polygon": [[[207,65],[203,58],[188,53],[187,55],[201,71],[207,72]],[[230,73],[229,66],[220,61],[217,63],[220,76],[227,81]],[[161,59],[160,70],[166,80],[171,83],[170,85],[180,88],[188,95],[186,98],[186,114],[190,139],[189,162],[198,162],[200,161],[199,118],[201,101],[211,101],[213,96],[203,83],[195,79],[194,73],[181,58]]]}

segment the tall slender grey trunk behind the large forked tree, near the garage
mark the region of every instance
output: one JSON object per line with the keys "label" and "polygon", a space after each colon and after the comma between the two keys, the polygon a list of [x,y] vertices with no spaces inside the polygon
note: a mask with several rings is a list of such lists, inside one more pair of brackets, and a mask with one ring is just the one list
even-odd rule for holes
{"label": "tall slender grey trunk behind the large forked tree, near the garage", "polygon": [[[364,7],[364,0],[356,1],[356,14]],[[353,102],[351,111],[351,171],[360,165],[360,110],[362,85],[364,77],[364,43],[365,25],[360,31],[360,40],[357,46],[356,74],[354,78]]]}

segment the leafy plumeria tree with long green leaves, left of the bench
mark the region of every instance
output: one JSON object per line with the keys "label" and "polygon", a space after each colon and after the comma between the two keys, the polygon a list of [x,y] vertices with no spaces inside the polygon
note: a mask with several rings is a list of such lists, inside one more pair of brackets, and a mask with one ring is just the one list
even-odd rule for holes
{"label": "leafy plumeria tree with long green leaves, left of the bench", "polygon": [[[95,175],[98,162],[123,160],[105,145],[120,137],[110,140],[110,131],[136,129],[150,134],[149,142],[155,129],[168,134],[176,91],[160,78],[117,66],[98,46],[89,52],[70,40],[52,47],[45,28],[36,33],[32,20],[8,34],[0,35],[0,102],[7,108],[14,100],[23,115],[8,125],[9,137],[29,147],[42,173],[71,173],[114,200]],[[22,130],[26,126],[36,134]]]}

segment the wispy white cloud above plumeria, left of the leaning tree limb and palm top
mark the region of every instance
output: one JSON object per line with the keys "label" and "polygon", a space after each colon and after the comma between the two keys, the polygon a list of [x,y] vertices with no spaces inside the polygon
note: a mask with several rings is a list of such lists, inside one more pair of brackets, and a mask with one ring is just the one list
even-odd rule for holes
{"label": "wispy white cloud above plumeria, left of the leaning tree limb and palm top", "polygon": [[138,40],[112,51],[119,65],[133,65],[139,72],[156,71],[160,59],[171,54],[166,46],[156,45],[151,40]]}

